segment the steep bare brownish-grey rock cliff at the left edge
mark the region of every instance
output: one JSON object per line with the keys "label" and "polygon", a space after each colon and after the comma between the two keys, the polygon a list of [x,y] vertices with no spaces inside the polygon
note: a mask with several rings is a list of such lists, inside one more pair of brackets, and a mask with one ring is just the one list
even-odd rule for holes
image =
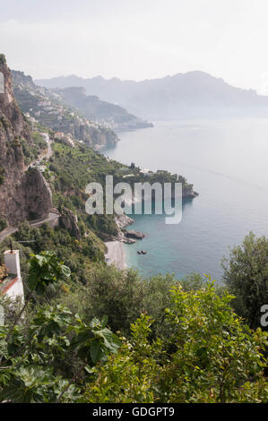
{"label": "steep bare brownish-grey rock cliff at the left edge", "polygon": [[30,127],[13,96],[12,76],[0,55],[4,93],[0,93],[0,219],[15,226],[23,219],[43,219],[52,207],[48,184],[37,169],[25,172],[22,139],[33,144]]}

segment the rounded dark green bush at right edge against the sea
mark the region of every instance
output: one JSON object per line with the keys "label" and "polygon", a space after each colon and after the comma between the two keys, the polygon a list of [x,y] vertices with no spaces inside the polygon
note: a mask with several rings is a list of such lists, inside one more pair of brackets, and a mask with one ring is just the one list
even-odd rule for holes
{"label": "rounded dark green bush at right edge against the sea", "polygon": [[236,296],[236,312],[253,328],[260,326],[262,305],[268,297],[268,239],[256,238],[250,233],[230,250],[229,259],[222,262],[223,279],[229,291]]}

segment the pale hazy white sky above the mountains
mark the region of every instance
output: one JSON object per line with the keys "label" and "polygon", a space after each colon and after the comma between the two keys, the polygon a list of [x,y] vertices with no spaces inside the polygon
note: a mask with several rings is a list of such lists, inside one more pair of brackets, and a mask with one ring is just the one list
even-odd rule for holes
{"label": "pale hazy white sky above the mountains", "polygon": [[0,0],[0,52],[35,78],[203,70],[268,93],[267,0]]}

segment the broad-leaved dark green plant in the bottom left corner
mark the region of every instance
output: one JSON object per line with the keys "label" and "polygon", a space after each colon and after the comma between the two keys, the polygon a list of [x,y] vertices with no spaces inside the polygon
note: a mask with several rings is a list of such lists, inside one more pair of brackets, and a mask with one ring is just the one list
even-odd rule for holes
{"label": "broad-leaved dark green plant in the bottom left corner", "polygon": [[[33,255],[30,260],[31,291],[45,293],[48,283],[68,277],[70,271],[51,252]],[[79,388],[74,381],[82,371],[105,362],[120,345],[117,336],[106,328],[106,320],[82,321],[64,305],[43,305],[27,322],[18,321],[29,297],[12,328],[0,327],[0,400],[11,402],[75,401]],[[26,322],[25,322],[26,321]],[[80,359],[78,373],[65,379],[62,361],[68,355]],[[64,372],[66,374],[67,371]]]}

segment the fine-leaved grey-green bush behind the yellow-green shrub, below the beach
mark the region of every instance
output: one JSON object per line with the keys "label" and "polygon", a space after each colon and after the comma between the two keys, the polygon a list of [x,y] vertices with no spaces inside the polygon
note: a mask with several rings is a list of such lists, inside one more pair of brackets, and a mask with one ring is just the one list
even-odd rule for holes
{"label": "fine-leaved grey-green bush behind the yellow-green shrub, below the beach", "polygon": [[153,334],[168,335],[165,326],[165,309],[170,305],[170,288],[177,285],[171,276],[155,276],[141,279],[134,270],[118,271],[114,266],[103,263],[91,267],[87,283],[75,286],[60,297],[86,321],[94,316],[108,317],[112,331],[130,333],[130,325],[139,314],[146,312],[156,320]]}

